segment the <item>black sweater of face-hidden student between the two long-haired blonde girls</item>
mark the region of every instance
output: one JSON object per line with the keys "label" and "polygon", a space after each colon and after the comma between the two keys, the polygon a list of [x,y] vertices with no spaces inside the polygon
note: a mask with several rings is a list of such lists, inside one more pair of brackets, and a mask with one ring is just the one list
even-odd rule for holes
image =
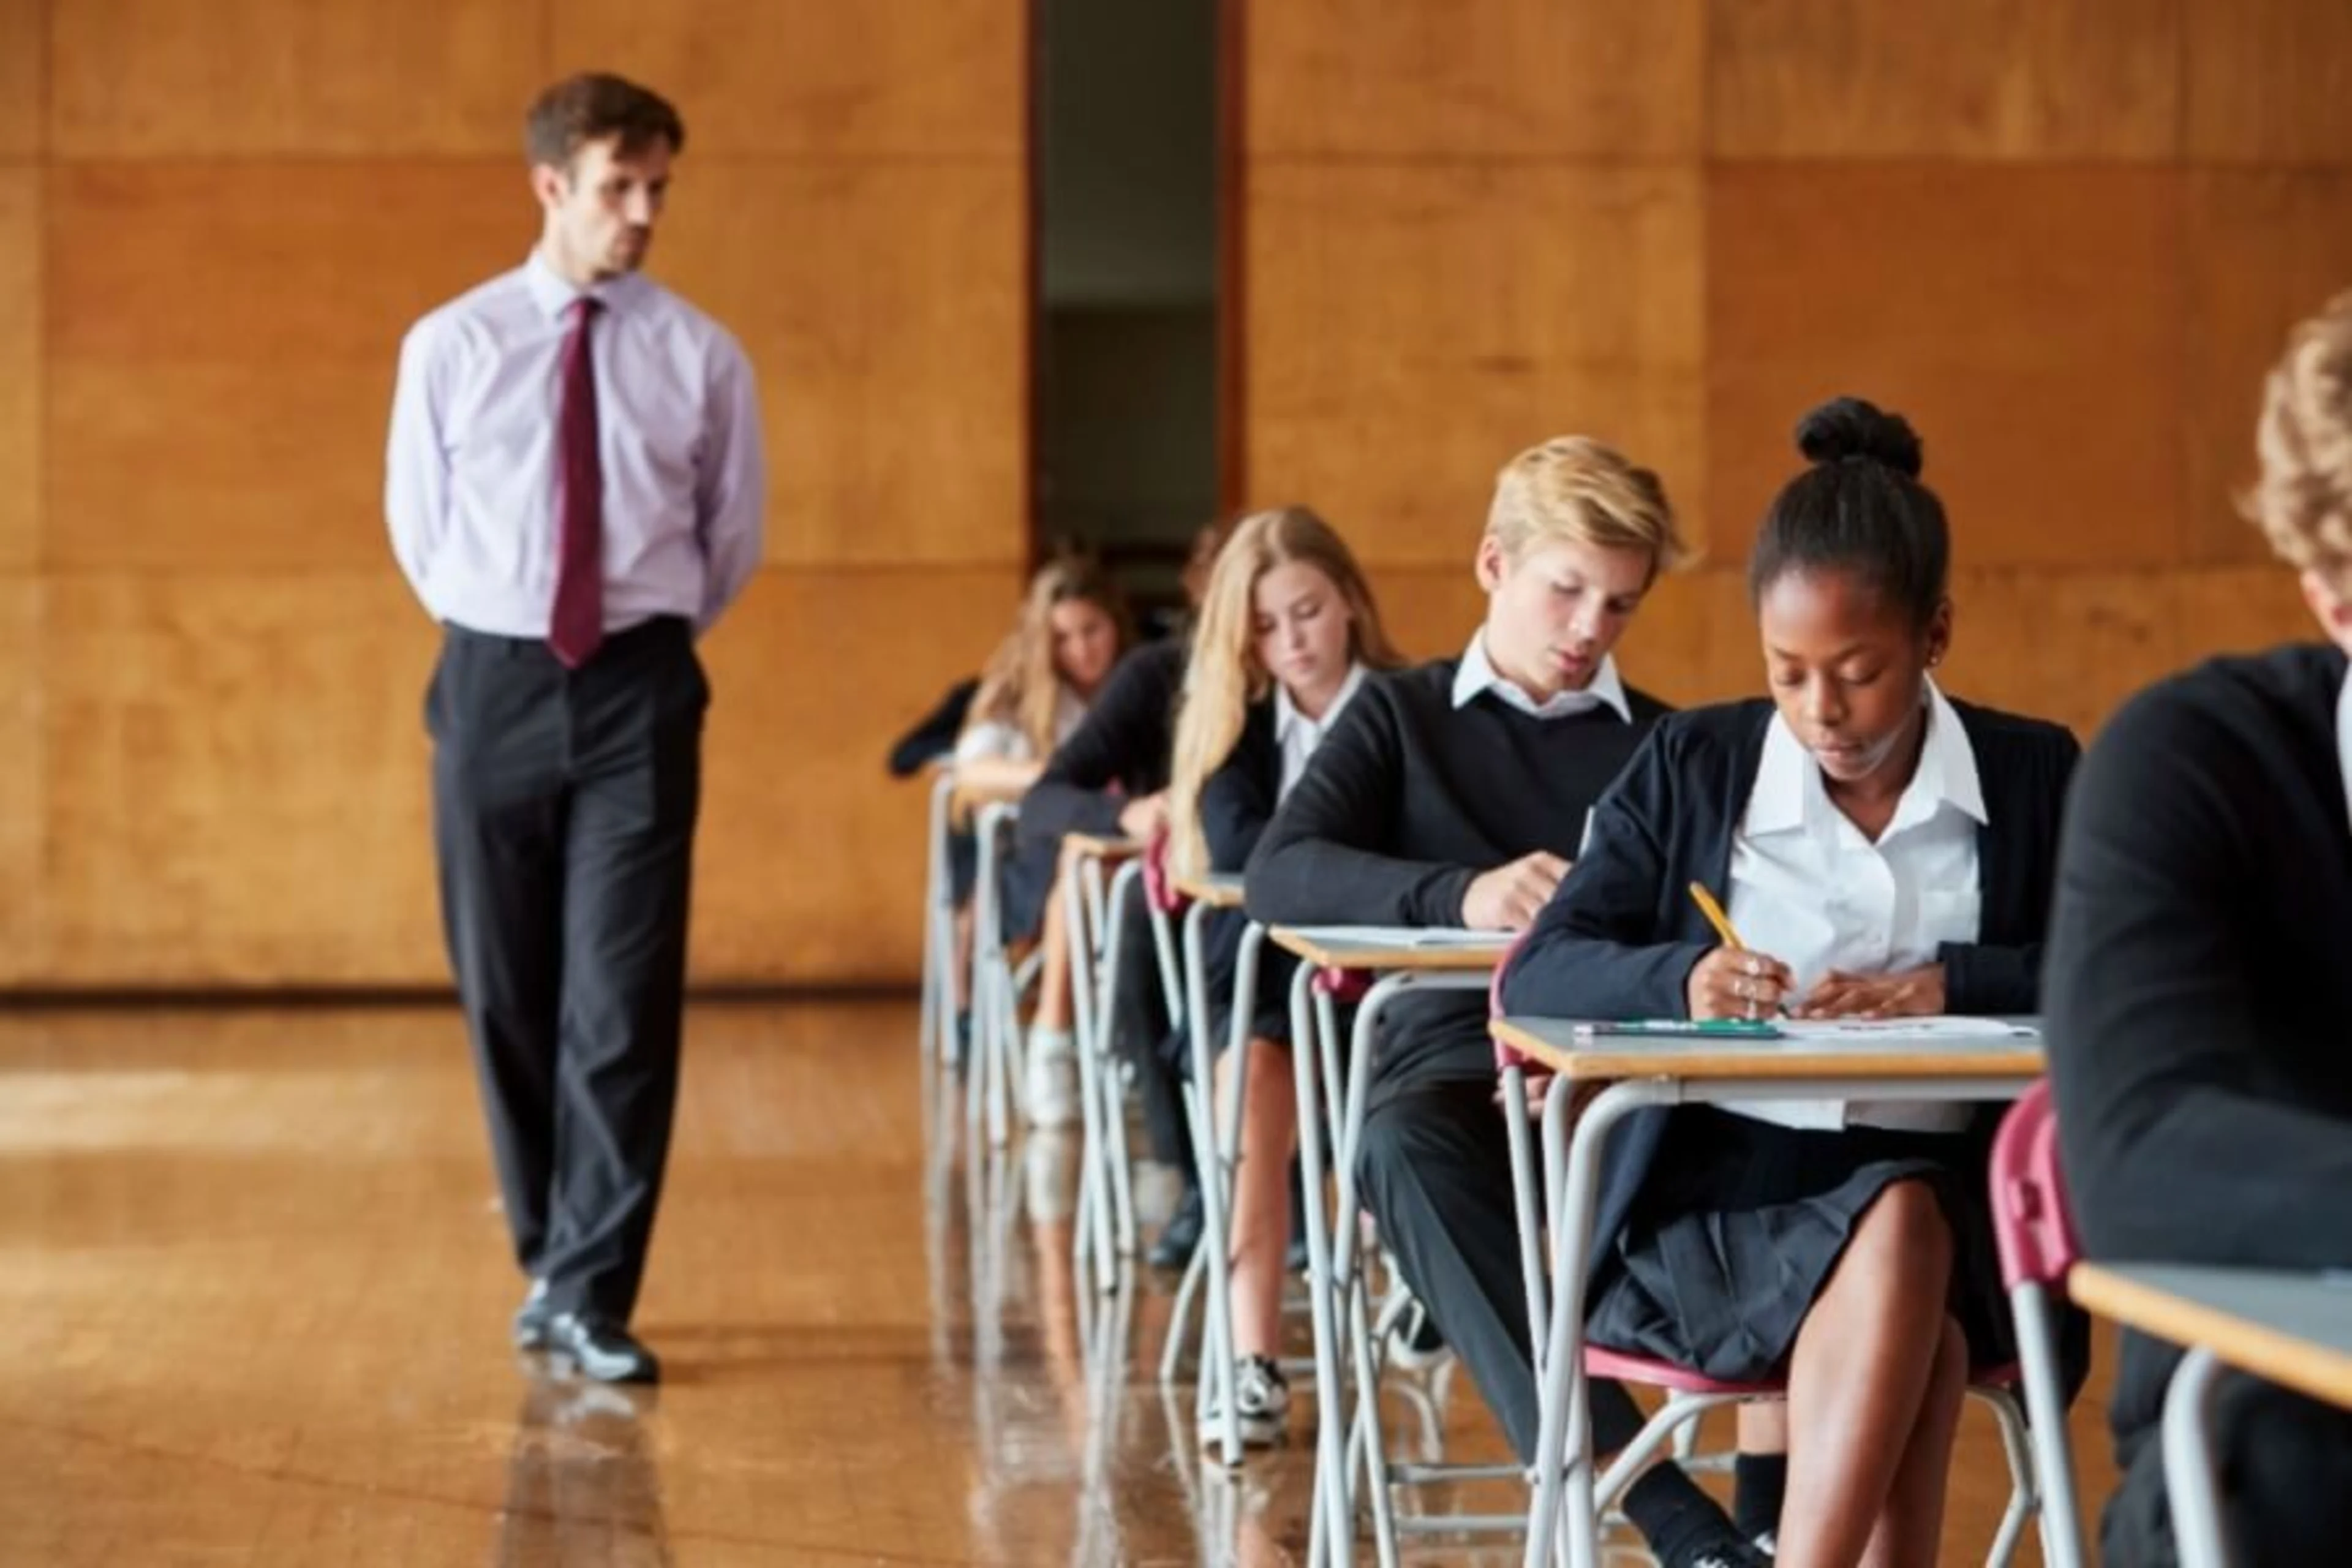
{"label": "black sweater of face-hidden student between the two long-haired blonde girls", "polygon": [[1021,853],[1058,853],[1065,832],[1115,835],[1127,802],[1169,785],[1183,665],[1185,644],[1174,637],[1120,661],[1021,797]]}

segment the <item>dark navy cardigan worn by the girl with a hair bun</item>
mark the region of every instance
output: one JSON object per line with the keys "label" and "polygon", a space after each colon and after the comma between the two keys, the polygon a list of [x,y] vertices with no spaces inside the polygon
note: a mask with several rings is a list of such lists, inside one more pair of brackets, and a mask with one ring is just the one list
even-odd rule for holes
{"label": "dark navy cardigan worn by the girl with a hair bun", "polygon": [[[1955,1013],[2032,1013],[2058,875],[2058,823],[2082,750],[2042,719],[1952,703],[1985,790],[1980,938],[1940,950]],[[1722,891],[1773,705],[1672,715],[1595,811],[1592,842],[1503,971],[1503,1009],[1552,1018],[1682,1018],[1691,969],[1717,947],[1689,884]],[[1670,1110],[1618,1124],[1602,1159],[1595,1274],[1625,1225]],[[1978,1119],[1990,1140],[1997,1107]]]}

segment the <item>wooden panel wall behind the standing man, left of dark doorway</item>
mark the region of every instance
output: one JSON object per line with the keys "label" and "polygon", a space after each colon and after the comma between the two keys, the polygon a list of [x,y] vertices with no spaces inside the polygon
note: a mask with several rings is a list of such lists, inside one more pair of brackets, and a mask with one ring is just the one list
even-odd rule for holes
{"label": "wooden panel wall behind the standing man, left of dark doorway", "polygon": [[0,0],[0,987],[435,985],[393,355],[522,261],[522,110],[689,127],[654,275],[762,376],[696,973],[917,964],[896,729],[1025,559],[1025,7]]}

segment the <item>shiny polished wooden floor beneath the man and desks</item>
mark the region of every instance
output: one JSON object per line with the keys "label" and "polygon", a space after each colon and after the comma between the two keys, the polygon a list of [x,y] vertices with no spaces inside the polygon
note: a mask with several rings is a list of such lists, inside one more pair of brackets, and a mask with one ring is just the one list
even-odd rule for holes
{"label": "shiny polished wooden floor beneath the man and desks", "polygon": [[[967,1147],[913,1032],[694,1011],[637,1321],[668,1382],[623,1394],[506,1349],[449,1009],[0,1016],[0,1563],[1298,1561],[1305,1443],[1202,1472],[1152,1375],[1169,1281],[1075,1302],[1075,1150]],[[1392,1432],[1491,1455],[1442,1394]],[[1947,1561],[2004,1486],[1971,1415]]]}

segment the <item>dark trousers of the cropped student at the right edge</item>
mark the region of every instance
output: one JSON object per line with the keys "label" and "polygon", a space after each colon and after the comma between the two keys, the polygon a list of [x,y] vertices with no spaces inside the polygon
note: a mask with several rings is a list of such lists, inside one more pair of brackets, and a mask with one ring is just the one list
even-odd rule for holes
{"label": "dark trousers of the cropped student at the right edge", "polygon": [[[2352,1542],[2352,1413],[2225,1371],[2213,1385],[2213,1455],[2232,1561],[2244,1568],[2345,1561]],[[2126,1436],[2117,1458],[2124,1483],[2107,1502],[2100,1552],[2114,1568],[2171,1568],[2180,1552],[2157,1425]]]}

